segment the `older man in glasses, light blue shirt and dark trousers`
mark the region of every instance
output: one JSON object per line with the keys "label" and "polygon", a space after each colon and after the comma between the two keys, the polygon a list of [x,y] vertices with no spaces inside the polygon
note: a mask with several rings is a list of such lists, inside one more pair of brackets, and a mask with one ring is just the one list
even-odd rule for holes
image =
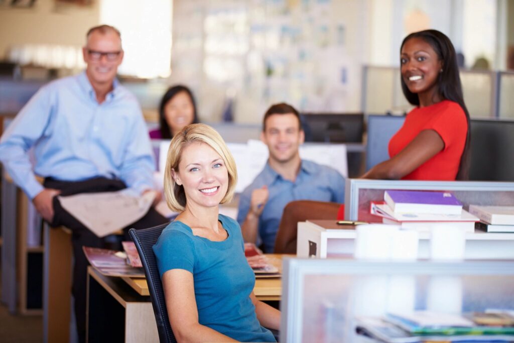
{"label": "older man in glasses, light blue shirt and dark trousers", "polygon": [[[154,157],[139,104],[116,80],[123,60],[120,33],[102,25],[91,28],[86,38],[86,70],[42,87],[0,140],[0,160],[16,185],[48,223],[72,230],[72,293],[80,341],[85,340],[88,264],[82,246],[103,247],[105,242],[64,210],[56,195],[126,187],[139,194],[155,192]],[[35,153],[34,167],[27,156],[30,148]],[[43,185],[35,174],[44,177]],[[131,226],[166,222],[152,208]]]}

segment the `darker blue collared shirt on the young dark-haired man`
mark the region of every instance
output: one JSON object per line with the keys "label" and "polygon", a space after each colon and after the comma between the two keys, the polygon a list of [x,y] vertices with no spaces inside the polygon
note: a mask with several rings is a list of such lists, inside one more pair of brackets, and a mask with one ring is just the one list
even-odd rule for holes
{"label": "darker blue collared shirt on the young dark-haired man", "polygon": [[254,189],[268,186],[268,202],[259,217],[258,242],[265,252],[273,252],[284,207],[294,200],[315,200],[344,203],[344,178],[333,168],[302,160],[295,182],[284,179],[267,163],[239,199],[237,221],[243,225]]}

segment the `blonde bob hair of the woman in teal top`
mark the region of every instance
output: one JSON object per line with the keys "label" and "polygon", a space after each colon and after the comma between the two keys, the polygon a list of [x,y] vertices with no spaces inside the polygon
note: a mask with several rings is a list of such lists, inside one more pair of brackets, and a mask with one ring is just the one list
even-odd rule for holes
{"label": "blonde bob hair of the woman in teal top", "polygon": [[221,204],[230,202],[234,196],[237,170],[234,157],[232,157],[222,136],[209,125],[190,124],[173,136],[166,158],[166,168],[164,169],[164,196],[168,207],[175,212],[181,212],[186,208],[186,193],[183,186],[175,183],[171,172],[172,170],[178,171],[182,151],[194,142],[206,143],[214,149],[222,157],[227,167],[228,188]]}

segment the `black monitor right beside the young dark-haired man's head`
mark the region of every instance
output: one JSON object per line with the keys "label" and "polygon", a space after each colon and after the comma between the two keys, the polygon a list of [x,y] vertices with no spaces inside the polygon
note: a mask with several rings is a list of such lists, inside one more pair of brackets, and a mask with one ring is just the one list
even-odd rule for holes
{"label": "black monitor right beside the young dark-haired man's head", "polygon": [[306,142],[362,142],[362,113],[303,113],[300,120]]}

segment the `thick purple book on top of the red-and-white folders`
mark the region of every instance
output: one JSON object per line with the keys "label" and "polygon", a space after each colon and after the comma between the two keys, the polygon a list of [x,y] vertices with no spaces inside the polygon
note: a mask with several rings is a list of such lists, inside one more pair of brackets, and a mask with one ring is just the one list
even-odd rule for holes
{"label": "thick purple book on top of the red-and-white folders", "polygon": [[462,204],[449,192],[398,191],[384,192],[384,201],[396,213],[461,214]]}

